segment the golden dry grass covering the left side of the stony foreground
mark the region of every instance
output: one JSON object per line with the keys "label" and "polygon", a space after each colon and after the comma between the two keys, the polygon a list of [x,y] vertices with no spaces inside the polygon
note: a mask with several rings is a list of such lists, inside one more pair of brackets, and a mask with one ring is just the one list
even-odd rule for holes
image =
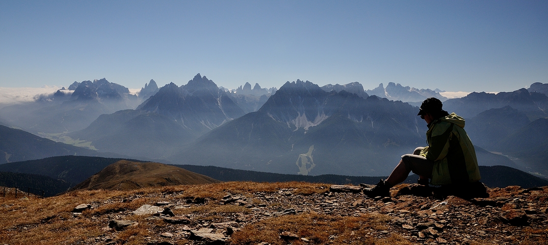
{"label": "golden dry grass covering the left side of the stony foreground", "polygon": [[[274,193],[279,189],[293,189],[295,194],[323,193],[329,189],[326,184],[304,182],[254,183],[226,182],[204,185],[172,185],[149,187],[129,191],[86,190],[74,191],[59,196],[18,199],[7,195],[0,197],[0,241],[12,244],[71,244],[101,234],[116,236],[115,241],[124,244],[142,244],[149,236],[150,226],[164,225],[163,221],[145,220],[143,217],[129,215],[125,219],[138,221],[122,232],[109,233],[106,227],[106,215],[115,215],[123,211],[133,211],[144,204],[152,204],[171,199],[193,199],[205,197],[220,200],[228,193],[246,195],[247,193]],[[251,200],[253,202],[253,200]],[[97,208],[84,211],[82,215],[71,214],[72,209],[82,203],[95,203]],[[235,205],[208,204],[174,211],[178,214],[199,213],[204,219],[217,220],[226,213],[249,213],[248,208]],[[112,232],[112,231],[110,231]],[[187,243],[184,240],[180,244]]]}

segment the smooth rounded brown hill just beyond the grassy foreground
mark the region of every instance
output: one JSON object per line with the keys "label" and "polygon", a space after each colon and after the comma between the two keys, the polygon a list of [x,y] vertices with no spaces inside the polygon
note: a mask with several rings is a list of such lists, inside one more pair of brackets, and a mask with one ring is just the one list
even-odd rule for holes
{"label": "smooth rounded brown hill just beyond the grassy foreground", "polygon": [[151,186],[219,183],[202,174],[157,162],[121,160],[74,186],[74,190],[134,190]]}

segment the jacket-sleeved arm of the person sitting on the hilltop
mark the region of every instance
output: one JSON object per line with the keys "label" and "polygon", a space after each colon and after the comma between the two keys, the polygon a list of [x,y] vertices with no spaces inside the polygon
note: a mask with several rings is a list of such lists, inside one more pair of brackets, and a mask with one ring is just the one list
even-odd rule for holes
{"label": "jacket-sleeved arm of the person sitting on the hilltop", "polygon": [[445,158],[449,151],[449,137],[453,131],[453,124],[441,122],[433,127],[435,128],[432,130],[429,147],[424,156],[430,161],[437,161]]}

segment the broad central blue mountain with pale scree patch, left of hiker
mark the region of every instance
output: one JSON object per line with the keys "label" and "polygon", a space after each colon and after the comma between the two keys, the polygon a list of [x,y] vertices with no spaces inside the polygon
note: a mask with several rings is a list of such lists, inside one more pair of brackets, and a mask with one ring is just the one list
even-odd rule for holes
{"label": "broad central blue mountain with pale scree patch, left of hiker", "polygon": [[175,163],[276,173],[379,176],[425,144],[426,124],[407,103],[286,83],[258,112],[207,133]]}

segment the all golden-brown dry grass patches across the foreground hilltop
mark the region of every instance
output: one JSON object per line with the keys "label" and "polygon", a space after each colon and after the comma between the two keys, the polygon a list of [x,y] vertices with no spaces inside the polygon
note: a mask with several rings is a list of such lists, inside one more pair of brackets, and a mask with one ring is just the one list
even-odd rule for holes
{"label": "all golden-brown dry grass patches across the foreground hilltop", "polygon": [[[150,237],[154,236],[151,231],[166,225],[163,220],[147,219],[151,215],[125,215],[123,219],[134,220],[138,224],[118,232],[108,228],[108,220],[122,212],[134,211],[144,204],[158,201],[196,198],[221,200],[227,193],[246,196],[257,192],[277,193],[287,188],[292,188],[295,195],[312,195],[326,193],[329,185],[301,182],[225,182],[149,187],[128,191],[83,190],[54,197],[40,198],[31,195],[22,199],[21,196],[15,199],[13,193],[8,193],[6,197],[0,196],[0,244],[86,244],[84,241],[88,238],[105,234],[112,237],[111,241],[116,244],[147,244]],[[248,201],[255,202],[254,199]],[[83,211],[82,214],[72,213],[72,209],[82,203],[99,205]],[[220,221],[229,214],[244,215],[250,211],[243,206],[220,205],[214,201],[174,210],[176,215],[196,214],[202,217],[202,220],[210,222]],[[386,234],[384,237],[369,235],[373,231],[387,230],[387,221],[391,219],[389,215],[376,212],[362,213],[357,217],[316,212],[280,215],[244,226],[232,234],[227,243],[288,244],[288,241],[283,240],[279,234],[282,231],[289,231],[309,240],[292,240],[290,244],[413,244],[397,232]],[[546,233],[528,231],[527,228],[523,232]],[[175,244],[193,244],[193,241],[181,238],[176,240]]]}

